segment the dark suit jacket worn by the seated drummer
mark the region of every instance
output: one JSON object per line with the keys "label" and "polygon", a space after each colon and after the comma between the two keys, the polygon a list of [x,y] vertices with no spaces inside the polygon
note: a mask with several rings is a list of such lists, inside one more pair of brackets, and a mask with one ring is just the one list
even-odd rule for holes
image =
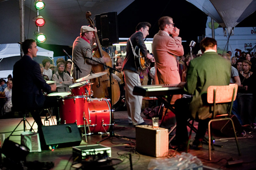
{"label": "dark suit jacket worn by the seated drummer", "polygon": [[15,109],[41,108],[45,102],[42,90],[51,93],[39,64],[26,55],[14,64],[12,83],[12,105]]}

